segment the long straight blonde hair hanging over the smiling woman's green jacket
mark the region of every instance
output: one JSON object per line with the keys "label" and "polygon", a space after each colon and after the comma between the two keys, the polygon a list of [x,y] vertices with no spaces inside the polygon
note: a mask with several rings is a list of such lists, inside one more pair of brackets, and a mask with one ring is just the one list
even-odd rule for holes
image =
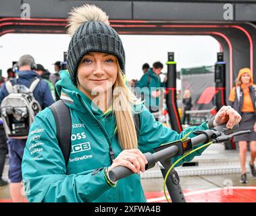
{"label": "long straight blonde hair hanging over the smiling woman's green jacket", "polygon": [[[118,90],[118,91],[117,91]],[[126,86],[122,70],[118,64],[118,76],[113,85],[113,112],[116,116],[118,142],[122,149],[138,148],[138,138],[132,110],[141,104],[134,93]]]}

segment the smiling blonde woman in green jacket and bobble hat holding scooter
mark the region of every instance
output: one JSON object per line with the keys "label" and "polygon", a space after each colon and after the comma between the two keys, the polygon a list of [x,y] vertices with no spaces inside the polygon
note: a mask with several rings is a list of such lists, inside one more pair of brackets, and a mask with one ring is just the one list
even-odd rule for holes
{"label": "smiling blonde woman in green jacket and bobble hat holding scooter", "polygon": [[[143,153],[153,153],[154,147],[177,140],[190,130],[208,129],[207,123],[178,134],[155,121],[136,101],[124,80],[122,41],[98,7],[84,5],[73,9],[68,32],[72,34],[68,71],[61,72],[57,91],[70,108],[72,151],[66,167],[53,113],[48,108],[39,113],[30,129],[22,161],[28,200],[145,202],[140,175],[111,182],[108,171],[118,165],[134,173],[145,171],[147,161]],[[140,113],[138,138],[134,113]],[[227,122],[232,128],[238,121],[240,115],[234,109],[222,107],[211,124]]]}

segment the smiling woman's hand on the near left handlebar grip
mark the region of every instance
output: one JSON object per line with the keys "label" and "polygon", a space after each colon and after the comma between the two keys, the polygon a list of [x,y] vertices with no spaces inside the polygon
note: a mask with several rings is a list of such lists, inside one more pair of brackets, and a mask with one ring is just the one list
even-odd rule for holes
{"label": "smiling woman's hand on the near left handlebar grip", "polygon": [[145,155],[137,148],[133,148],[122,151],[113,161],[108,171],[113,169],[113,167],[124,166],[131,169],[134,173],[139,174],[140,171],[145,172],[146,164],[147,159]]}

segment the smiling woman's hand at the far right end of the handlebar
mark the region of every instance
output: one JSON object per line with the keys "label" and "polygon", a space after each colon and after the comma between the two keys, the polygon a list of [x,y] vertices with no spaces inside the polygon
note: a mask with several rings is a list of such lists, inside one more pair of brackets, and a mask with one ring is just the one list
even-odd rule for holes
{"label": "smiling woman's hand at the far right end of the handlebar", "polygon": [[242,119],[240,114],[230,106],[223,106],[215,115],[213,126],[226,124],[228,129],[232,129]]}

